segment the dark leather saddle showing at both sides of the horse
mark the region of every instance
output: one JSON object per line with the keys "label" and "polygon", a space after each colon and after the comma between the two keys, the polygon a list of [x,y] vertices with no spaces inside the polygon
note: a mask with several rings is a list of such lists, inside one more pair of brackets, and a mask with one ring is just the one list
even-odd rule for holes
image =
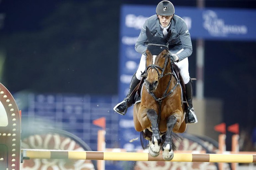
{"label": "dark leather saddle showing at both sides of the horse", "polygon": [[[180,85],[181,85],[182,91],[183,91],[183,93],[182,93],[182,94],[183,94],[183,102],[186,102],[186,98],[185,98],[186,88],[185,88],[185,83],[184,83],[183,78],[182,78],[181,73],[180,73],[180,69],[179,69],[179,67],[178,67],[176,64],[174,64],[174,63],[172,63],[172,66],[173,66],[173,71],[175,72],[175,74],[176,74],[178,80],[180,80]],[[144,72],[144,73],[145,73],[145,72]],[[144,73],[143,73],[142,75],[144,75]],[[142,86],[143,86],[143,84],[144,84],[145,79],[146,79],[145,76],[142,77],[140,83],[135,87],[135,89],[134,89],[133,92],[132,92],[132,93],[136,93],[135,96],[134,96],[134,102],[133,102],[133,104],[138,103],[138,102],[141,101],[141,90],[142,90]]]}

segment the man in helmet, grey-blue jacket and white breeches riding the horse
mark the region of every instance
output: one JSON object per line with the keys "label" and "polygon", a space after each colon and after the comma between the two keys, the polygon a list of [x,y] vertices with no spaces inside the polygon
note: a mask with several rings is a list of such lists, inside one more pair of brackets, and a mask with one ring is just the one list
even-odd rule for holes
{"label": "man in helmet, grey-blue jacket and white breeches riding the horse", "polygon": [[180,68],[180,73],[186,87],[186,98],[188,107],[186,109],[185,122],[197,123],[197,118],[192,105],[192,81],[189,76],[189,60],[188,57],[192,54],[192,42],[189,29],[185,21],[174,15],[174,6],[170,1],[161,1],[156,8],[156,15],[149,17],[140,32],[138,40],[135,44],[135,50],[142,53],[140,65],[137,72],[133,75],[130,88],[126,98],[114,107],[114,111],[121,115],[125,115],[127,108],[133,104],[134,95],[131,95],[134,88],[141,80],[141,73],[145,71],[146,65],[146,49],[148,39],[146,36],[146,27],[155,36],[164,36],[168,31],[172,31],[169,43],[169,53],[171,59]]}

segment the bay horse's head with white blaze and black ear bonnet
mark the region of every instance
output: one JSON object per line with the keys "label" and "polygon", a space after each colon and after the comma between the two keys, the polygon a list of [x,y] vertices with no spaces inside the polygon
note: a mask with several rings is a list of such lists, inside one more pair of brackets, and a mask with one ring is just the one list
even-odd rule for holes
{"label": "bay horse's head with white blaze and black ear bonnet", "polygon": [[149,91],[154,91],[170,61],[168,40],[171,36],[171,31],[163,38],[152,35],[148,28],[146,28],[146,34],[149,41],[146,50],[146,88]]}

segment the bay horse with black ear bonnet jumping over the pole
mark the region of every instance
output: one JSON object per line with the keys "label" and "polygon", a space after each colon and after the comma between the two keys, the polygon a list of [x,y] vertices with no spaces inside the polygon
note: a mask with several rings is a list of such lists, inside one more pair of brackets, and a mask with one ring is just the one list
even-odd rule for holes
{"label": "bay horse with black ear bonnet jumping over the pole", "polygon": [[[175,148],[172,133],[183,133],[187,128],[182,87],[170,60],[168,40],[171,31],[160,37],[152,35],[146,28],[146,34],[149,44],[146,50],[145,79],[141,102],[133,107],[134,127],[138,132],[152,133],[151,139],[146,138],[150,141],[151,156],[158,156],[162,147],[163,158],[169,161],[173,159]],[[165,138],[161,138],[161,135]]]}

